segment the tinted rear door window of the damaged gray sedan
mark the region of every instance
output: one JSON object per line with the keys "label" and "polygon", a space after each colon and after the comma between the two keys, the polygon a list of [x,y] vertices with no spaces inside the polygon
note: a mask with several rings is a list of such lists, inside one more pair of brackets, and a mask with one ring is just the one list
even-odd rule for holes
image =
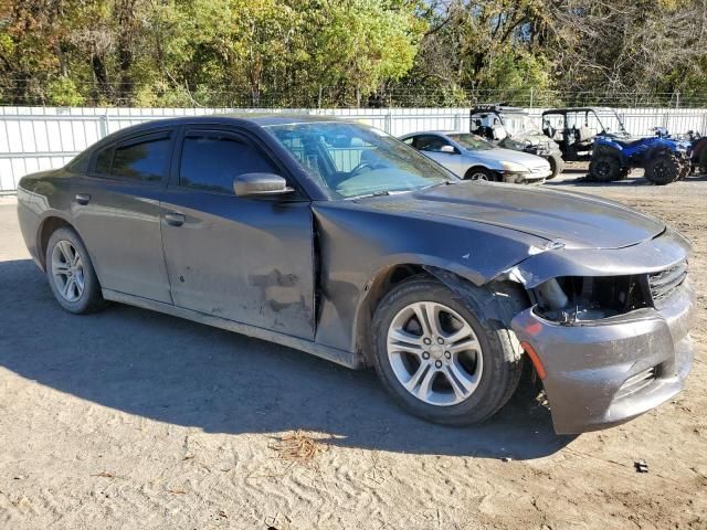
{"label": "tinted rear door window of the damaged gray sedan", "polygon": [[127,180],[159,181],[167,173],[169,134],[133,138],[99,151],[96,172]]}

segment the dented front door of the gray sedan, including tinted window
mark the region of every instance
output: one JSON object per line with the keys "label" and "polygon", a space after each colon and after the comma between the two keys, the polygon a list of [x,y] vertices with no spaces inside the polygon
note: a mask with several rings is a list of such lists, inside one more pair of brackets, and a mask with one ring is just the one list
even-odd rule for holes
{"label": "dented front door of the gray sedan, including tinted window", "polygon": [[182,131],[162,200],[175,305],[313,339],[309,201],[297,193],[235,197],[233,179],[252,172],[282,174],[245,134]]}

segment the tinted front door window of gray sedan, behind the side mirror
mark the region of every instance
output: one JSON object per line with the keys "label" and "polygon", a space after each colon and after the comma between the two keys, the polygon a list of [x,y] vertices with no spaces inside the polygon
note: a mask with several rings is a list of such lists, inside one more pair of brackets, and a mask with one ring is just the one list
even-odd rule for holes
{"label": "tinted front door window of gray sedan, behind the side mirror", "polygon": [[272,162],[254,146],[220,132],[187,134],[179,184],[218,193],[233,193],[233,179],[243,173],[272,173]]}

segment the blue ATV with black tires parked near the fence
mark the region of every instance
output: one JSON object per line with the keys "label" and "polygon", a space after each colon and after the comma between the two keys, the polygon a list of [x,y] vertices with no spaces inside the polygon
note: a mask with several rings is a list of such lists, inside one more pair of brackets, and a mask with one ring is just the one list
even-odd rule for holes
{"label": "blue ATV with black tires parked near the fence", "polygon": [[599,182],[622,180],[633,168],[643,168],[645,178],[656,186],[684,179],[690,171],[690,142],[671,138],[656,127],[655,136],[631,138],[602,135],[594,138],[589,178]]}

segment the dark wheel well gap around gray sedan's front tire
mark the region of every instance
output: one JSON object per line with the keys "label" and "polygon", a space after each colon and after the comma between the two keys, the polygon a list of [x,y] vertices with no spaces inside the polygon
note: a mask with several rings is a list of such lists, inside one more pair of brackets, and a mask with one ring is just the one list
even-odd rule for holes
{"label": "dark wheel well gap around gray sedan's front tire", "polygon": [[371,324],[373,321],[373,312],[383,296],[400,282],[421,274],[426,274],[421,265],[415,264],[400,264],[394,265],[373,278],[370,284],[363,288],[366,297],[361,303],[356,319],[356,351],[363,356],[363,362],[367,365],[372,365],[371,353]]}

